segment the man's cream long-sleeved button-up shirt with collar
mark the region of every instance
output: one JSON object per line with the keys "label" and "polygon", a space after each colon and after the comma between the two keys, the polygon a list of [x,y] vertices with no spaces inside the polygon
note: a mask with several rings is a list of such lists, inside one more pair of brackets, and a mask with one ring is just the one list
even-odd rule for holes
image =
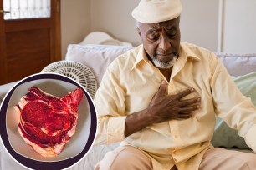
{"label": "man's cream long-sleeved button-up shirt with collar", "polygon": [[198,169],[203,153],[212,148],[217,115],[238,129],[256,151],[256,107],[238,90],[217,56],[185,42],[172,69],[168,94],[193,87],[195,91],[185,98],[201,97],[200,109],[192,118],[166,120],[125,138],[126,116],[146,109],[163,80],[142,45],[116,58],[95,95],[99,115],[95,144],[123,141],[121,145],[140,148],[150,156],[154,169],[170,169],[174,164],[178,169]]}

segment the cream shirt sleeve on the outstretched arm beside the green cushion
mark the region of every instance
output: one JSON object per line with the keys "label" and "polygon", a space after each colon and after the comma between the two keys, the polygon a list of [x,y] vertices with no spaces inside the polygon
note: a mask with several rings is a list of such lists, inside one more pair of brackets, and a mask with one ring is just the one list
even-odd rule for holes
{"label": "cream shirt sleeve on the outstretched arm beside the green cushion", "polygon": [[215,112],[228,126],[238,130],[256,152],[256,107],[243,96],[223,64],[218,60],[212,73],[211,90]]}

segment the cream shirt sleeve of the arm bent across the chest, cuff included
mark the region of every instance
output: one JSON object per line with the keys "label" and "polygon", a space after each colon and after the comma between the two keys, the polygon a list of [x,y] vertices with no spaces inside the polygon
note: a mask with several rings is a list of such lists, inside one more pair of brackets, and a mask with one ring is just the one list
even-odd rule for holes
{"label": "cream shirt sleeve of the arm bent across the chest, cuff included", "polygon": [[117,70],[110,65],[95,95],[98,114],[95,145],[116,143],[125,138],[125,90]]}

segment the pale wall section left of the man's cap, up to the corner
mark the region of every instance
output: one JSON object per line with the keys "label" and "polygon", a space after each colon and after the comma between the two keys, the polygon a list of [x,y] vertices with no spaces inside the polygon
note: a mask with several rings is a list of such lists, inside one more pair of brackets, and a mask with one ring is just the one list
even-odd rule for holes
{"label": "pale wall section left of the man's cap, up to the corner", "polygon": [[131,11],[138,0],[91,0],[91,30],[103,31],[121,41],[140,43]]}

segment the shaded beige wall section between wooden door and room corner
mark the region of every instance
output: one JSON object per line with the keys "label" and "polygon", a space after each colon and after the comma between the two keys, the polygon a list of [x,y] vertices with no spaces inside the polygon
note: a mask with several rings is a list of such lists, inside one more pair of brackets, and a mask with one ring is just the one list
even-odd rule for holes
{"label": "shaded beige wall section between wooden door and room corner", "polygon": [[90,32],[90,0],[61,0],[62,58],[70,43],[79,43]]}

